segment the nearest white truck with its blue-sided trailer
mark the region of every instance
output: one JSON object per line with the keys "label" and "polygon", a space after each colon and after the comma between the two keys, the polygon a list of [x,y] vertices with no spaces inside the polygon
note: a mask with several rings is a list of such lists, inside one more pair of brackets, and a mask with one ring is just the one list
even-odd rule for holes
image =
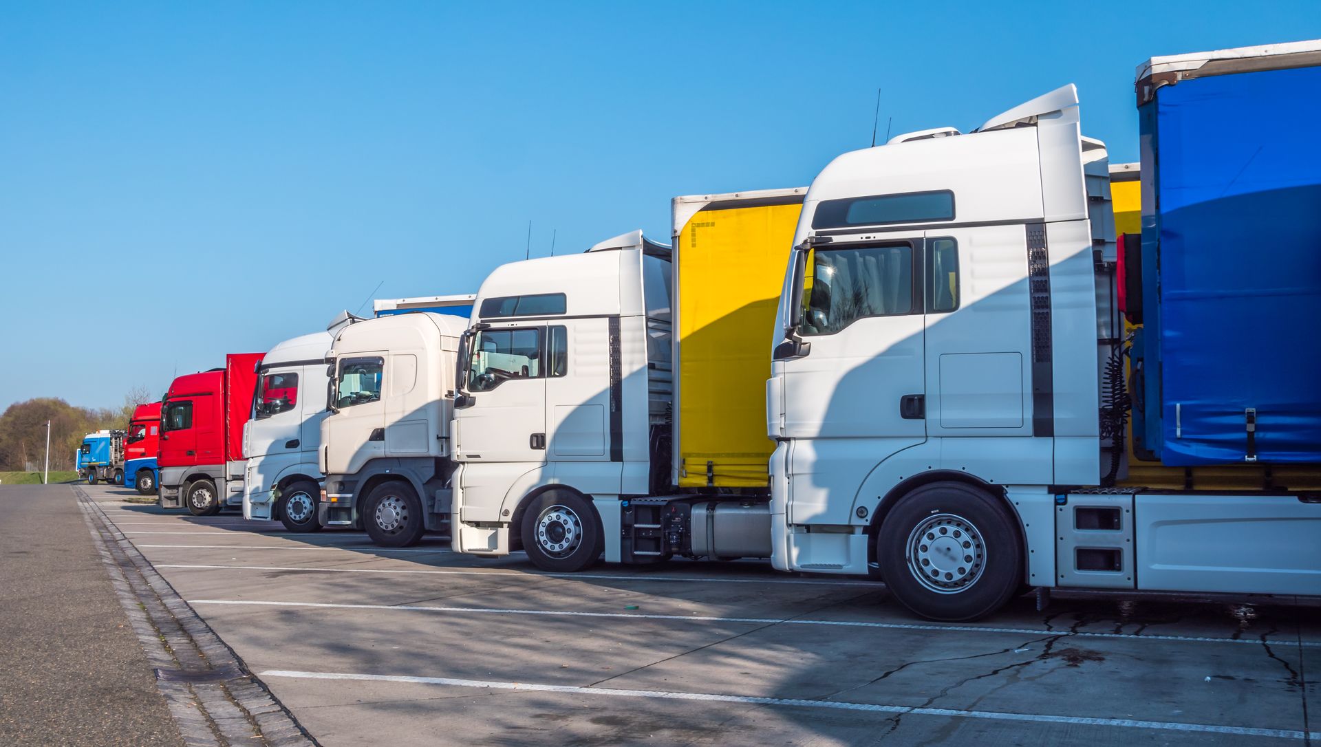
{"label": "nearest white truck with its blue-sided trailer", "polygon": [[[1128,293],[1157,347],[1133,395],[1166,465],[1317,461],[1314,346],[1280,322],[1321,314],[1309,44],[1139,75],[1155,107]],[[1131,410],[1118,257],[1089,219],[1102,161],[1073,87],[930,135],[845,153],[808,191],[768,385],[774,566],[875,566],[941,620],[1024,586],[1321,594],[1316,492],[1115,484]],[[1242,253],[1263,242],[1269,261]],[[1226,355],[1225,339],[1264,347]]]}

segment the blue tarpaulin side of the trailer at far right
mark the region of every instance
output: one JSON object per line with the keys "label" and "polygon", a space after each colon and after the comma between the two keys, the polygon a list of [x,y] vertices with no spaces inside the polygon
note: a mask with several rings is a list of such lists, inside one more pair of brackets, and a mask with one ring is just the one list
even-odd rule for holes
{"label": "blue tarpaulin side of the trailer at far right", "polygon": [[1188,79],[1143,110],[1148,446],[1321,462],[1321,67]]}

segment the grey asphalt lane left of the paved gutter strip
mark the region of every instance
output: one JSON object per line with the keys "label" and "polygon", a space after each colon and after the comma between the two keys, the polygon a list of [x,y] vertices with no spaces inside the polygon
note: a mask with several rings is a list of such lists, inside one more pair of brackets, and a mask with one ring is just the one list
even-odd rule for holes
{"label": "grey asphalt lane left of the paved gutter strip", "polygon": [[182,744],[69,486],[0,487],[0,744]]}

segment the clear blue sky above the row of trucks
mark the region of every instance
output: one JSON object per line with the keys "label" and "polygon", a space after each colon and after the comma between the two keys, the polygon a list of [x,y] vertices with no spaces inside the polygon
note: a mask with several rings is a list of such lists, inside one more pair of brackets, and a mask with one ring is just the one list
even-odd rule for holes
{"label": "clear blue sky above the row of trucks", "polygon": [[[1152,55],[1321,3],[0,3],[0,408],[131,387],[373,297],[806,186],[872,137],[1077,83],[1137,160]],[[363,313],[370,314],[370,304]]]}

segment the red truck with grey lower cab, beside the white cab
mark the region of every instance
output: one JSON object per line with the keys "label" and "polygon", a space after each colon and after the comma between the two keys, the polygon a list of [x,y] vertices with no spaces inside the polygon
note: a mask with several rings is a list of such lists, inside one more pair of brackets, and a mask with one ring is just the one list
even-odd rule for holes
{"label": "red truck with grey lower cab, beside the white cab", "polygon": [[230,354],[223,368],[170,383],[161,401],[161,508],[211,516],[243,504],[243,424],[262,355]]}

